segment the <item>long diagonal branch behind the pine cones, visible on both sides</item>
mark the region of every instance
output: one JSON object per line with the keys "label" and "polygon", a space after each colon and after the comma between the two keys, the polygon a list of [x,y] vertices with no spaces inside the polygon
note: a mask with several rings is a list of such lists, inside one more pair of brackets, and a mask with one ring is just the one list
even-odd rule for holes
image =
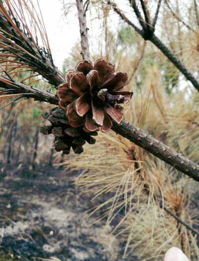
{"label": "long diagonal branch behind the pine cones, visible on both sides", "polygon": [[[35,100],[45,101],[51,104],[57,104],[58,102],[58,97],[53,93],[35,87],[29,87],[19,82],[11,82],[5,77],[0,77],[0,87],[4,89],[14,89],[14,91],[12,91],[14,93],[28,93],[28,96]],[[112,130],[170,164],[177,170],[199,181],[199,166],[197,164],[167,147],[152,136],[147,135],[132,123],[123,120],[121,125],[118,125],[116,122],[113,122]]]}

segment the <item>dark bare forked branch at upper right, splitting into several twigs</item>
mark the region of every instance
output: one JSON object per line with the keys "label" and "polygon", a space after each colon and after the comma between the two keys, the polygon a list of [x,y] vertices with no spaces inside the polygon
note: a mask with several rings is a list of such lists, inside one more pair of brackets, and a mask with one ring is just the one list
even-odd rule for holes
{"label": "dark bare forked branch at upper right, splitting into several twigs", "polygon": [[132,26],[136,32],[138,32],[144,40],[151,41],[175,66],[178,68],[178,70],[189,80],[193,86],[199,91],[199,82],[196,80],[196,78],[193,76],[193,74],[184,66],[184,64],[178,59],[178,57],[172,53],[165,45],[164,43],[155,35],[155,25],[158,18],[158,13],[160,9],[160,4],[162,0],[159,0],[157,10],[155,17],[153,19],[153,22],[150,21],[150,15],[148,13],[148,9],[146,6],[146,3],[143,0],[140,0],[142,10],[144,13],[144,18],[142,17],[138,6],[136,5],[135,0],[129,0],[131,4],[131,7],[133,8],[137,19],[142,27],[142,29],[139,29],[134,23],[132,23],[122,12],[121,10],[116,6],[115,3],[111,1],[107,1],[107,4],[112,6],[113,10],[119,14],[119,16],[127,22],[130,26]]}

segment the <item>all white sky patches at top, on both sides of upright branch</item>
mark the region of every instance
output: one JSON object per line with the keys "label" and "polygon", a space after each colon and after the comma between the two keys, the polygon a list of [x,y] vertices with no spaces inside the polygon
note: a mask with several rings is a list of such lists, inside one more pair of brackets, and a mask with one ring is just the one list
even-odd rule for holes
{"label": "all white sky patches at top, on both sides of upright branch", "polygon": [[[72,5],[69,9],[67,15],[64,15],[63,1],[67,3],[67,7]],[[37,0],[33,0],[35,6],[37,5]],[[118,2],[121,2],[119,0]],[[70,4],[72,3],[72,4]],[[44,24],[46,27],[48,40],[54,60],[54,64],[62,70],[64,59],[68,57],[71,49],[75,43],[80,43],[80,28],[79,28],[79,19],[78,12],[75,0],[40,0],[39,6],[42,12]],[[91,13],[93,18],[96,18],[95,7],[92,7]],[[89,12],[89,11],[88,11]],[[114,13],[112,11],[112,13]],[[87,15],[87,27],[90,28],[89,41],[91,46],[97,46],[98,39],[100,35],[100,22],[99,19],[93,19],[92,22],[90,19],[90,13]],[[109,17],[110,24],[114,31],[119,22],[117,15],[110,15]],[[91,24],[92,23],[92,24]],[[90,48],[92,52],[92,48]]]}

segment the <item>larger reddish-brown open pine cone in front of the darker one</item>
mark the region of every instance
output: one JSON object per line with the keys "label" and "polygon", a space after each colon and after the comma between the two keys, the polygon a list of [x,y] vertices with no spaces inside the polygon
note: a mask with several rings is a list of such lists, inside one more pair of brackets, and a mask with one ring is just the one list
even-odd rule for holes
{"label": "larger reddish-brown open pine cone in front of the darker one", "polygon": [[115,72],[115,66],[99,58],[95,64],[80,61],[75,70],[68,70],[65,82],[59,85],[57,96],[59,106],[66,110],[71,126],[83,126],[85,132],[103,132],[112,127],[112,120],[118,124],[123,119],[123,107],[132,97],[131,91],[124,91],[128,76]]}

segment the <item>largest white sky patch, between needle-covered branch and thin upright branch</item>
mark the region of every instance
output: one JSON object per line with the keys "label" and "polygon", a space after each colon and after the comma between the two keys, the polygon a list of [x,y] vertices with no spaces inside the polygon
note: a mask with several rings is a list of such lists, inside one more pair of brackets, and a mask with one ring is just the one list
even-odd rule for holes
{"label": "largest white sky patch, between needle-covered branch and thin upright branch", "polygon": [[67,58],[73,45],[80,40],[79,20],[75,8],[73,14],[64,16],[61,0],[41,0],[42,11],[54,64],[62,70],[64,59]]}

